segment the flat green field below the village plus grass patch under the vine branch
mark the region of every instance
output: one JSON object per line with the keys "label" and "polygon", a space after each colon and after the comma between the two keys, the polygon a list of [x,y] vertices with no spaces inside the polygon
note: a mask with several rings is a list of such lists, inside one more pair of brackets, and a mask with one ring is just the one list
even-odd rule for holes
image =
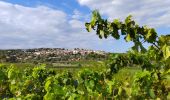
{"label": "flat green field below the village plus grass patch under the vine branch", "polygon": [[[47,65],[46,67],[47,69],[52,69],[59,73],[67,72],[67,71],[75,73],[85,69],[90,69],[94,71],[106,70],[107,67],[105,63],[106,63],[105,61],[72,61],[72,62],[64,62],[64,63],[54,63],[52,67],[49,66],[48,64],[44,64],[44,65]],[[35,65],[33,63],[3,63],[3,64],[5,64],[6,66],[13,65],[16,68],[19,68],[21,71],[26,68],[34,68],[41,65],[41,64]],[[134,81],[134,75],[137,72],[141,72],[141,71],[142,69],[138,67],[123,68],[118,73],[114,74],[113,78],[120,81],[126,80],[129,83],[129,85],[131,85]],[[168,80],[167,84],[168,86],[170,86],[170,76],[167,77],[167,80]]]}

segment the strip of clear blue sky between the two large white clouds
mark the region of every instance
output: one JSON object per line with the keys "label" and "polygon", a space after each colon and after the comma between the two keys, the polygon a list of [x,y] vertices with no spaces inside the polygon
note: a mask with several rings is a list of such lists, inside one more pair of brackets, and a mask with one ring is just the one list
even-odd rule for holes
{"label": "strip of clear blue sky between the two large white clouds", "polygon": [[79,5],[78,1],[76,0],[2,0],[2,1],[29,7],[44,5],[53,9],[62,10],[70,14],[73,13],[75,9],[79,9],[80,11],[83,11],[83,13],[90,13],[90,9],[88,9],[88,7]]}

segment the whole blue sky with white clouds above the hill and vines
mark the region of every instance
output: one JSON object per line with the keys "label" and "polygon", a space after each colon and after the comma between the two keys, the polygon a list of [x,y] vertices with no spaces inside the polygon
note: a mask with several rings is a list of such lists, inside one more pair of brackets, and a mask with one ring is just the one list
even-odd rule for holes
{"label": "whole blue sky with white clouds above the hill and vines", "polygon": [[87,32],[91,11],[170,33],[170,0],[0,0],[0,49],[87,48],[126,52],[133,45],[122,38],[99,39]]}

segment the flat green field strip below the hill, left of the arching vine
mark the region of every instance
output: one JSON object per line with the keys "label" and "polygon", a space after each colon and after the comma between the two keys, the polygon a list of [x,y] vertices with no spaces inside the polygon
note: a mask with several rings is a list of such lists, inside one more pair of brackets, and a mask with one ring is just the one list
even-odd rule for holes
{"label": "flat green field strip below the hill, left of the arching vine", "polygon": [[[27,68],[27,67],[35,67],[39,66],[41,64],[33,64],[33,63],[3,63],[6,66],[14,66],[21,70]],[[105,68],[105,64],[102,61],[72,61],[72,62],[63,62],[63,63],[52,63],[46,64],[46,68],[48,69],[54,69],[57,72],[63,72],[63,71],[71,71],[71,72],[77,72],[79,70],[82,70],[84,68],[89,68],[92,70],[102,70]]]}

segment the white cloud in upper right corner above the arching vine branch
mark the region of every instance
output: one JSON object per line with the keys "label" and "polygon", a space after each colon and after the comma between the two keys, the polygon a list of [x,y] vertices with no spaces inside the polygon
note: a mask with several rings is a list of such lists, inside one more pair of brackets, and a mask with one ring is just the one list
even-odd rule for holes
{"label": "white cloud in upper right corner above the arching vine branch", "polygon": [[91,10],[98,9],[109,19],[133,15],[140,24],[170,27],[170,0],[78,0]]}

